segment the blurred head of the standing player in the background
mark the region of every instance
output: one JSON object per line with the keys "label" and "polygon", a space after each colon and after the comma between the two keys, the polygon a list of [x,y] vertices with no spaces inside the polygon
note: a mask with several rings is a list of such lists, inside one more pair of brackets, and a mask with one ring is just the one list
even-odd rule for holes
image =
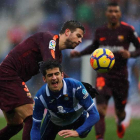
{"label": "blurred head of the standing player in the background", "polygon": [[109,24],[111,24],[112,26],[115,26],[120,22],[121,10],[118,3],[111,2],[107,5],[106,17],[108,19]]}

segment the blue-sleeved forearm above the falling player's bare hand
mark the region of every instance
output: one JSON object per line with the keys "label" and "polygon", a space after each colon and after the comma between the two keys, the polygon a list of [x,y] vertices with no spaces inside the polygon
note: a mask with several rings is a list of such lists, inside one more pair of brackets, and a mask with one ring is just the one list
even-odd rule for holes
{"label": "blue-sleeved forearm above the falling player's bare hand", "polygon": [[89,117],[86,119],[85,123],[80,126],[76,131],[79,135],[82,135],[84,132],[89,130],[92,126],[95,125],[100,119],[99,113],[95,107],[89,111]]}

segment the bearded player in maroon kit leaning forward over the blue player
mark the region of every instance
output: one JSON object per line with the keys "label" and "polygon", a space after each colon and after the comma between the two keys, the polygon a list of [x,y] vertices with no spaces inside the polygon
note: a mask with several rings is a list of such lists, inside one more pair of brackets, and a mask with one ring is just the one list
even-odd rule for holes
{"label": "bearded player in maroon kit leaning forward over the blue player", "polygon": [[39,73],[39,62],[56,59],[61,62],[61,50],[74,49],[82,42],[84,27],[77,21],[64,23],[59,35],[39,32],[6,56],[0,65],[0,109],[7,126],[0,130],[0,140],[9,140],[23,127],[23,140],[30,140],[33,99],[25,84]]}

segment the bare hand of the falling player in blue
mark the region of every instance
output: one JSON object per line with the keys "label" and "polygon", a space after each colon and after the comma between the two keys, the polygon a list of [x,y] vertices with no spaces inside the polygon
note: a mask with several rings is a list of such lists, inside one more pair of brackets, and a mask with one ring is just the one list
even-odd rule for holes
{"label": "bare hand of the falling player in blue", "polygon": [[79,137],[78,132],[75,130],[61,130],[58,132],[58,135],[63,137],[63,138]]}

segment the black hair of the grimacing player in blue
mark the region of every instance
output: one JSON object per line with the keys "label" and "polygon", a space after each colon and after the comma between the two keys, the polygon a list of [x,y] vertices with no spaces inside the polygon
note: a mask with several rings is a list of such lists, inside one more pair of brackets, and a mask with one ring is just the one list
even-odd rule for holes
{"label": "black hair of the grimacing player in blue", "polygon": [[46,75],[46,70],[48,69],[59,68],[60,72],[62,72],[62,66],[60,62],[58,62],[57,60],[42,61],[39,63],[39,66],[40,66],[40,73],[43,76]]}

